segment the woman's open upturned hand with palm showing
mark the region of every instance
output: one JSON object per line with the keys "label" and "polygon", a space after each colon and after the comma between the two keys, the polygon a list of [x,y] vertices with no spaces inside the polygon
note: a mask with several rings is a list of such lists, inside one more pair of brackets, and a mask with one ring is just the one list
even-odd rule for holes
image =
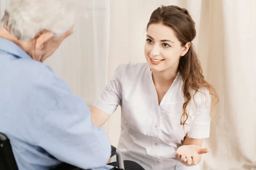
{"label": "woman's open upturned hand with palm showing", "polygon": [[189,165],[196,165],[201,160],[201,154],[208,153],[209,149],[199,147],[198,145],[182,145],[177,148],[175,156],[180,157],[182,162]]}

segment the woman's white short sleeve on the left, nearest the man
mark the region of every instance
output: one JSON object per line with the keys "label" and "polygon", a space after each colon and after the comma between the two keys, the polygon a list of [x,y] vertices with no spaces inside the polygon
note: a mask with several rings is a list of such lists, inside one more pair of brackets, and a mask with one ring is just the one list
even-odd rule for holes
{"label": "woman's white short sleeve on the left, nearest the man", "polygon": [[116,111],[117,106],[122,102],[122,78],[125,66],[125,64],[120,64],[116,68],[113,78],[93,105],[109,115],[112,115]]}

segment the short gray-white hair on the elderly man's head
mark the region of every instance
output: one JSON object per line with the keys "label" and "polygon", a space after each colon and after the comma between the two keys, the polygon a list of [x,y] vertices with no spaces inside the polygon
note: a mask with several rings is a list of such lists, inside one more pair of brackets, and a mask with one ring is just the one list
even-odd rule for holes
{"label": "short gray-white hair on the elderly man's head", "polygon": [[2,22],[18,40],[30,41],[40,31],[58,37],[75,22],[79,0],[7,0]]}

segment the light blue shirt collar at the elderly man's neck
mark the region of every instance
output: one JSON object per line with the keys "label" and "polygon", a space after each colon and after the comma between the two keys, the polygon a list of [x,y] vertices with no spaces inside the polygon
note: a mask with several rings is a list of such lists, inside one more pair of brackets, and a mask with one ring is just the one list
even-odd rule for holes
{"label": "light blue shirt collar at the elderly man's neck", "polygon": [[12,54],[15,57],[32,59],[29,54],[23,51],[17,44],[10,40],[0,38],[0,50],[8,54]]}

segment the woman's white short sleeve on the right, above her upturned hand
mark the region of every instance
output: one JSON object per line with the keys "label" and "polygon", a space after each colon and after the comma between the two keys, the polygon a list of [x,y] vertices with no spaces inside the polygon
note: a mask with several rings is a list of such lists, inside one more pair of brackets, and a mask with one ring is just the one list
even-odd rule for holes
{"label": "woman's white short sleeve on the right, above her upturned hand", "polygon": [[187,135],[194,139],[205,139],[209,137],[210,133],[211,96],[209,91],[204,91],[203,93],[198,92],[195,98],[200,98],[200,102],[198,102],[199,104],[197,105],[196,112],[193,115],[194,119],[192,119],[190,130]]}

